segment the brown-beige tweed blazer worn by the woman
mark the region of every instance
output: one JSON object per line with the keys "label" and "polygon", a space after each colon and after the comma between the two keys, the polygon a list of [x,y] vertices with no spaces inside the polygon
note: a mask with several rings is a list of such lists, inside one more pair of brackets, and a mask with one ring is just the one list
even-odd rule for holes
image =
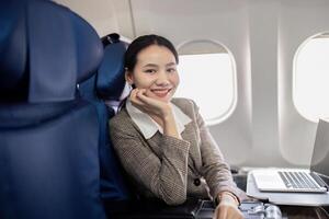
{"label": "brown-beige tweed blazer worn by the woman", "polygon": [[184,203],[188,196],[212,198],[228,191],[239,199],[228,164],[205,126],[195,103],[173,99],[192,122],[177,139],[157,131],[145,139],[126,108],[110,120],[114,149],[136,189],[168,205]]}

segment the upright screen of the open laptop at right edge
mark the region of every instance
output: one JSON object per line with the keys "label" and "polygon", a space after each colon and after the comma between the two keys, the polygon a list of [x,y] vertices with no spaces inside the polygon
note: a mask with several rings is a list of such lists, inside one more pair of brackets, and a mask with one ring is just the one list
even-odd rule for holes
{"label": "upright screen of the open laptop at right edge", "polygon": [[313,150],[310,171],[329,177],[329,122],[319,120]]}

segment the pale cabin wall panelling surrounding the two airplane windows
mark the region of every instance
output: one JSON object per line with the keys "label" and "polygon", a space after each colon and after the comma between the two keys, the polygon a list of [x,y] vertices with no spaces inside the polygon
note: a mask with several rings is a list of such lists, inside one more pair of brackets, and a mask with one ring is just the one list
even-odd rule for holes
{"label": "pale cabin wall panelling surrounding the two airplane windows", "polygon": [[[317,124],[292,100],[293,59],[309,36],[329,30],[327,0],[56,0],[103,36],[156,33],[175,46],[209,39],[232,54],[237,105],[209,126],[226,160],[247,166],[304,166]],[[209,93],[216,101],[216,93]]]}

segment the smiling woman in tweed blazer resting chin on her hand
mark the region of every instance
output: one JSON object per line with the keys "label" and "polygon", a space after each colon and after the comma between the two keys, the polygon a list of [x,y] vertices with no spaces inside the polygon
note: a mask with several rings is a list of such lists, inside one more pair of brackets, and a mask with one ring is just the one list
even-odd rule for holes
{"label": "smiling woman in tweed blazer resting chin on her hand", "polygon": [[140,36],[129,45],[125,78],[133,90],[110,120],[114,148],[141,195],[168,205],[188,196],[213,198],[215,218],[242,218],[241,192],[197,106],[172,99],[178,62],[173,45],[161,36]]}

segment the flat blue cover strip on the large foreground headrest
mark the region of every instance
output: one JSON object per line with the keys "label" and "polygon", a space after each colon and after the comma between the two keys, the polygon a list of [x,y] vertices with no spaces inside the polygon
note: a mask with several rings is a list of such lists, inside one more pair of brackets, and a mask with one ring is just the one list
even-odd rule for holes
{"label": "flat blue cover strip on the large foreground headrest", "polygon": [[27,5],[29,100],[33,102],[75,97],[78,58],[75,33],[69,13],[58,9],[47,2],[32,2]]}

